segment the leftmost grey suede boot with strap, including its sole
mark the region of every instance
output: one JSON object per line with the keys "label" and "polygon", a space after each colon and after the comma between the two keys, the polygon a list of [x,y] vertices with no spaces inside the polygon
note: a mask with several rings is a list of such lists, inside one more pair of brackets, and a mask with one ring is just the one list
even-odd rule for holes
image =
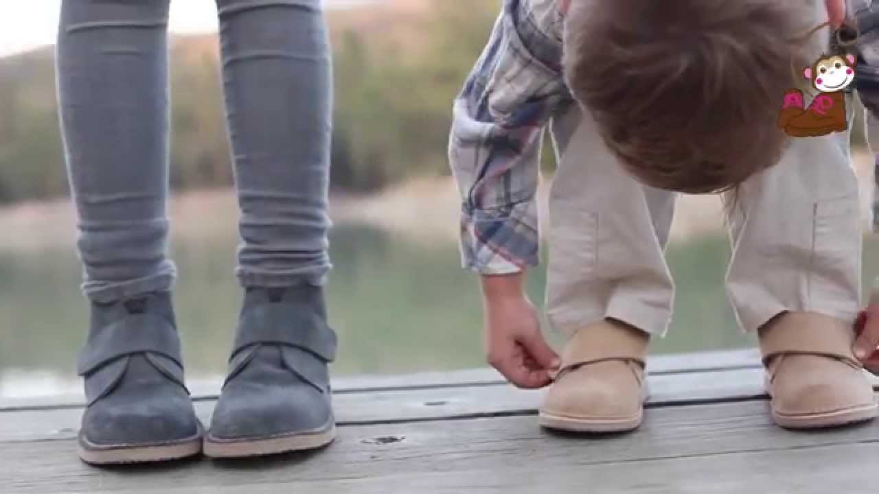
{"label": "leftmost grey suede boot with strap, including its sole", "polygon": [[79,456],[94,464],[175,460],[199,454],[202,427],[184,385],[170,294],[92,302],[80,353],[87,406]]}

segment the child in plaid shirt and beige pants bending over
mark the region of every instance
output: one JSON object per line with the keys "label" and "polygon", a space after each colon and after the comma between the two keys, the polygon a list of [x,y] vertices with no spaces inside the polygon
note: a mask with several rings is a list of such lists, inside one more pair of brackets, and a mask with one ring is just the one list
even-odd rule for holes
{"label": "child in plaid shirt and beige pants bending over", "polygon": [[[449,158],[463,265],[482,278],[489,361],[519,387],[551,383],[541,425],[642,423],[647,348],[672,318],[664,250],[677,193],[723,195],[730,303],[759,336],[775,421],[875,418],[853,350],[861,223],[849,133],[794,138],[778,125],[788,90],[810,85],[801,68],[832,38],[804,33],[845,17],[842,0],[818,2],[505,0],[455,101]],[[855,48],[864,62],[863,42]],[[814,108],[796,121],[811,125]],[[561,355],[541,338],[522,283],[539,258],[546,127],[560,158],[541,225],[546,311],[568,337]]]}

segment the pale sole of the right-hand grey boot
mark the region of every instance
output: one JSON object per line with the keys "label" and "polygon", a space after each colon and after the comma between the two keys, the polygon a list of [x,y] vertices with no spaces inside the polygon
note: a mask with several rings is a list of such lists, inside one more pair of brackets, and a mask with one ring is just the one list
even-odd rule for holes
{"label": "pale sole of the right-hand grey boot", "polygon": [[286,436],[247,438],[243,440],[218,440],[210,434],[204,440],[204,454],[209,458],[247,458],[270,454],[308,451],[330,444],[336,439],[336,426],[320,432],[296,433]]}

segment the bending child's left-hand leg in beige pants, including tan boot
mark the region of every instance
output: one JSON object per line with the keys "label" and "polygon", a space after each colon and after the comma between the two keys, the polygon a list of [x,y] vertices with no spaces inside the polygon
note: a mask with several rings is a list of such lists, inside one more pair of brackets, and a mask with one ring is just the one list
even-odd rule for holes
{"label": "bending child's left-hand leg in beige pants, including tan boot", "polygon": [[[675,194],[629,177],[588,117],[573,112],[558,127],[563,158],[550,197],[547,311],[570,341],[541,424],[630,430],[643,417],[649,336],[665,334],[671,319],[674,286],[663,250]],[[575,127],[568,139],[564,129]]]}

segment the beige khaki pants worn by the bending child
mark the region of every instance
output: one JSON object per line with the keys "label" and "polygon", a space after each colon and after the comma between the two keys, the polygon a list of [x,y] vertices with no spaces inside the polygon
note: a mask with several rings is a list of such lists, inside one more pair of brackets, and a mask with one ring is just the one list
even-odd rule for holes
{"label": "beige khaki pants worn by the bending child", "polygon": [[[677,194],[631,178],[579,110],[556,119],[553,135],[561,159],[544,222],[550,325],[570,335],[614,317],[665,335],[675,290],[664,250]],[[854,321],[862,236],[849,138],[794,139],[780,163],[742,186],[726,218],[726,284],[744,331],[788,310]]]}

